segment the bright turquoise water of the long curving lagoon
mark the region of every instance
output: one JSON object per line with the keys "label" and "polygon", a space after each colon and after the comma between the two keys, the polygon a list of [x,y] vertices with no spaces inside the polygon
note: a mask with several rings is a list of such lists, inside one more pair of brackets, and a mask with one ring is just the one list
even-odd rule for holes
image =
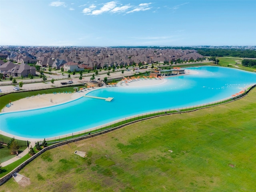
{"label": "bright turquoise water of the long curving lagoon", "polygon": [[236,69],[204,66],[186,70],[198,74],[168,77],[166,83],[155,86],[117,86],[88,93],[114,97],[111,102],[82,97],[58,106],[1,114],[0,127],[25,138],[55,137],[142,113],[222,100],[256,83],[256,73]]}

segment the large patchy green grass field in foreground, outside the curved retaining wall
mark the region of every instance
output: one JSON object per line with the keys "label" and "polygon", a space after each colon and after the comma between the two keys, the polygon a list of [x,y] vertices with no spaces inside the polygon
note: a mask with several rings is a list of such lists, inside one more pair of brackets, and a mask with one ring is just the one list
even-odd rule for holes
{"label": "large patchy green grass field in foreground, outside the curved retaining wall", "polygon": [[0,191],[253,192],[255,114],[256,89],[229,104],[144,120],[48,150],[19,172],[30,185],[10,179]]}

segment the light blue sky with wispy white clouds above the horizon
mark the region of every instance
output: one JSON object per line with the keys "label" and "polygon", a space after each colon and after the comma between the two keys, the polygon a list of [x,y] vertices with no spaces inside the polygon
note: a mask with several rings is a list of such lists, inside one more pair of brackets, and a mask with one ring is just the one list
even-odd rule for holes
{"label": "light blue sky with wispy white clouds above the horizon", "polygon": [[256,0],[0,0],[0,45],[256,45]]}

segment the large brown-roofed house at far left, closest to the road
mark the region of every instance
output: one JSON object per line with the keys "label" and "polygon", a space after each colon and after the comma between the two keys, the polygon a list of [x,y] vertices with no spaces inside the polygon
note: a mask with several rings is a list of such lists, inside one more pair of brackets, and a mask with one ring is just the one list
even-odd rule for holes
{"label": "large brown-roofed house at far left, closest to the road", "polygon": [[9,76],[13,77],[27,77],[29,74],[35,76],[36,75],[36,68],[29,66],[28,64],[15,64],[14,68],[7,71]]}

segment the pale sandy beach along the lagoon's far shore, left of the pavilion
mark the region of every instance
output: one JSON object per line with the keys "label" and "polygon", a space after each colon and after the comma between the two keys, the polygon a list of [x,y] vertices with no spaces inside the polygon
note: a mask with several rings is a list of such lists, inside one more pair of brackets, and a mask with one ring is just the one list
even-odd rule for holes
{"label": "pale sandy beach along the lagoon's far shore, left of the pavilion", "polygon": [[[139,79],[139,80],[130,80],[127,83],[123,82],[122,85],[119,82],[116,87],[139,87],[139,86],[152,86],[157,84],[163,84],[166,80],[164,78],[157,78],[157,79]],[[108,86],[109,87],[109,86]],[[45,95],[35,95],[34,97],[29,98],[22,98],[20,100],[12,102],[12,105],[8,108],[5,107],[2,109],[2,113],[5,112],[14,112],[14,111],[23,111],[23,110],[31,110],[31,109],[38,109],[44,108],[49,106],[55,106],[59,104],[63,104],[66,102],[70,102],[72,100],[76,100],[90,91],[101,89],[101,88],[108,88],[106,86],[102,87],[95,87],[95,88],[87,88],[86,90],[82,90],[75,93],[57,93],[57,94],[45,94]]]}

